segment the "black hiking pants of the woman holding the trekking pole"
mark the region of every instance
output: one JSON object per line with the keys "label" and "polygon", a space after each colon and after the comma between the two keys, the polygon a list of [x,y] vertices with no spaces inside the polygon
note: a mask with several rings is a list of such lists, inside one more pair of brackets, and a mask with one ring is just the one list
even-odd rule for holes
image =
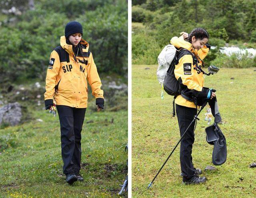
{"label": "black hiking pants of the woman holding the trekking pole", "polygon": [[[182,136],[194,119],[194,116],[197,114],[197,110],[196,108],[189,108],[176,104],[176,114],[180,128],[180,136]],[[180,142],[180,167],[183,173],[183,180],[192,178],[195,175],[195,168],[192,163],[191,155],[192,145],[195,140],[194,126],[195,123],[188,128],[188,131]]]}

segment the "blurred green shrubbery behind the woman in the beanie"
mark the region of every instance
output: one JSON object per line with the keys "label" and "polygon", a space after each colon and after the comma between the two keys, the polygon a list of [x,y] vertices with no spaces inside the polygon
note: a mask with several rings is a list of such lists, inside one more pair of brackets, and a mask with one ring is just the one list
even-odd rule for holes
{"label": "blurred green shrubbery behind the woman in the beanie", "polygon": [[[0,49],[0,82],[18,77],[45,80],[50,53],[60,45],[60,36],[71,20],[81,22],[83,38],[90,43],[99,73],[126,74],[127,2],[110,2],[42,0],[36,2],[35,10],[17,16],[13,24],[2,25],[0,45],[4,48]],[[85,12],[87,6],[90,11]],[[75,18],[78,16],[80,18]]]}

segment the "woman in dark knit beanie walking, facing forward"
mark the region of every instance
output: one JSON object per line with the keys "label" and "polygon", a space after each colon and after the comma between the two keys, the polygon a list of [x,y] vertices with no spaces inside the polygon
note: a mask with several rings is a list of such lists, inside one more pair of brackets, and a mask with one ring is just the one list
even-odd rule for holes
{"label": "woman in dark knit beanie walking, facing forward", "polygon": [[[66,182],[83,181],[80,172],[81,131],[87,108],[88,86],[96,98],[98,111],[104,108],[101,81],[89,44],[82,39],[79,22],[69,22],[65,36],[60,37],[60,46],[50,56],[44,94],[46,110],[55,106],[60,119],[63,173]],[[54,103],[55,101],[55,103]]]}

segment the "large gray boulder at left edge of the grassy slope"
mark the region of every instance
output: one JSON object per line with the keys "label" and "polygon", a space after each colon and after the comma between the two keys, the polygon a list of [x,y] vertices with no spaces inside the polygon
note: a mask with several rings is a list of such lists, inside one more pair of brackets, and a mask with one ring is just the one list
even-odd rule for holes
{"label": "large gray boulder at left edge of the grassy slope", "polygon": [[21,106],[18,102],[9,103],[0,108],[0,125],[5,123],[14,126],[20,123],[22,118]]}

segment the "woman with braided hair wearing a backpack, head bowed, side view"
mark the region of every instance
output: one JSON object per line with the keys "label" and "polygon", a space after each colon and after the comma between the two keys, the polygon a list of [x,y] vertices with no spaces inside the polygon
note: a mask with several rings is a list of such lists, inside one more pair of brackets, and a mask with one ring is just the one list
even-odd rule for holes
{"label": "woman with braided hair wearing a backpack, head bowed, side view", "polygon": [[[200,106],[200,101],[215,97],[215,93],[204,87],[204,74],[202,72],[203,59],[210,46],[207,44],[209,34],[203,28],[195,28],[187,35],[173,37],[171,44],[180,50],[175,62],[174,74],[181,87],[181,94],[177,96],[176,114],[182,136],[192,122]],[[181,34],[182,34],[181,33]],[[187,38],[187,41],[184,38]],[[180,166],[182,182],[185,184],[198,184],[206,181],[199,177],[200,169],[194,168],[192,163],[192,145],[194,143],[194,124],[190,126],[186,135],[180,142]]]}

